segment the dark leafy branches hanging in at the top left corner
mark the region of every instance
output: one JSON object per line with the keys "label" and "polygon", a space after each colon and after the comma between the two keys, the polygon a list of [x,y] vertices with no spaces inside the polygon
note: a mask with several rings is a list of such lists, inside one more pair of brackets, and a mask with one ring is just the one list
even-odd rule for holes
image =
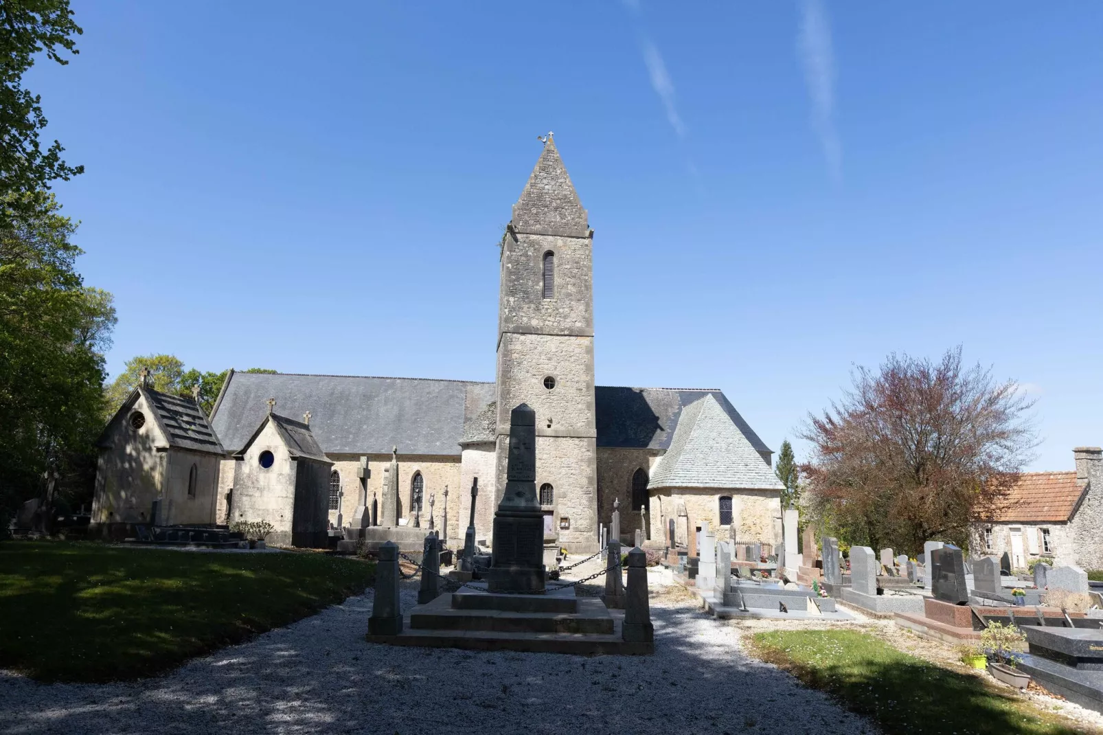
{"label": "dark leafy branches hanging in at the top left corner", "polygon": [[[63,54],[77,54],[68,0],[0,1],[0,219],[35,217],[29,195],[50,189],[50,182],[84,172],[83,166],[62,160],[65,149],[54,140],[45,150],[39,140],[46,127],[42,98],[23,87],[23,75],[40,55],[61,65]],[[33,196],[32,196],[33,199]]]}

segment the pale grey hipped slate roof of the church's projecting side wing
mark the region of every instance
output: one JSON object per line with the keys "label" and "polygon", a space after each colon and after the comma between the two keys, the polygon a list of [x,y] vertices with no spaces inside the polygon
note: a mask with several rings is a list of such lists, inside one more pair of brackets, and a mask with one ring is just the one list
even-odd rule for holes
{"label": "pale grey hipped slate roof of the church's projecting side wing", "polygon": [[781,480],[711,394],[682,409],[647,488],[783,490]]}

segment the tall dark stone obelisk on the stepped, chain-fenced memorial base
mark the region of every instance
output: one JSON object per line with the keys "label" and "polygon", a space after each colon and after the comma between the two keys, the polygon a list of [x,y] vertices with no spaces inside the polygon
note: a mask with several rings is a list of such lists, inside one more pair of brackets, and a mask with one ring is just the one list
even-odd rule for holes
{"label": "tall dark stone obelisk on the stepped, chain-fenced memorial base", "polygon": [[521,404],[510,412],[505,491],[494,513],[492,593],[543,594],[544,511],[536,497],[536,412]]}

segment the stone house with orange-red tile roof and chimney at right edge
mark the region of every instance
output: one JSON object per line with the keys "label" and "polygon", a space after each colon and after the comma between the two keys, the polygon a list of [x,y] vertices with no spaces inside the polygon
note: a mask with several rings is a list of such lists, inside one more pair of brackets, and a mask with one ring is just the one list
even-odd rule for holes
{"label": "stone house with orange-red tile roof and chimney at right edge", "polygon": [[972,529],[976,556],[1003,556],[1103,569],[1103,449],[1072,450],[1075,470],[1024,472],[987,518]]}

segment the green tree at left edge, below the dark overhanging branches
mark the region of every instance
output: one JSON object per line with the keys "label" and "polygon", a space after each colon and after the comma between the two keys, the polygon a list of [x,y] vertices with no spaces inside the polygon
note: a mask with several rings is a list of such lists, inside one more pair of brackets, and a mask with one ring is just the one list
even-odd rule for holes
{"label": "green tree at left edge, below the dark overhanging branches", "polygon": [[6,528],[14,507],[45,487],[62,494],[90,492],[88,458],[101,428],[101,350],[115,309],[109,294],[86,288],[76,273],[81,249],[69,242],[76,225],[52,194],[2,199],[28,213],[0,220],[0,528]]}

